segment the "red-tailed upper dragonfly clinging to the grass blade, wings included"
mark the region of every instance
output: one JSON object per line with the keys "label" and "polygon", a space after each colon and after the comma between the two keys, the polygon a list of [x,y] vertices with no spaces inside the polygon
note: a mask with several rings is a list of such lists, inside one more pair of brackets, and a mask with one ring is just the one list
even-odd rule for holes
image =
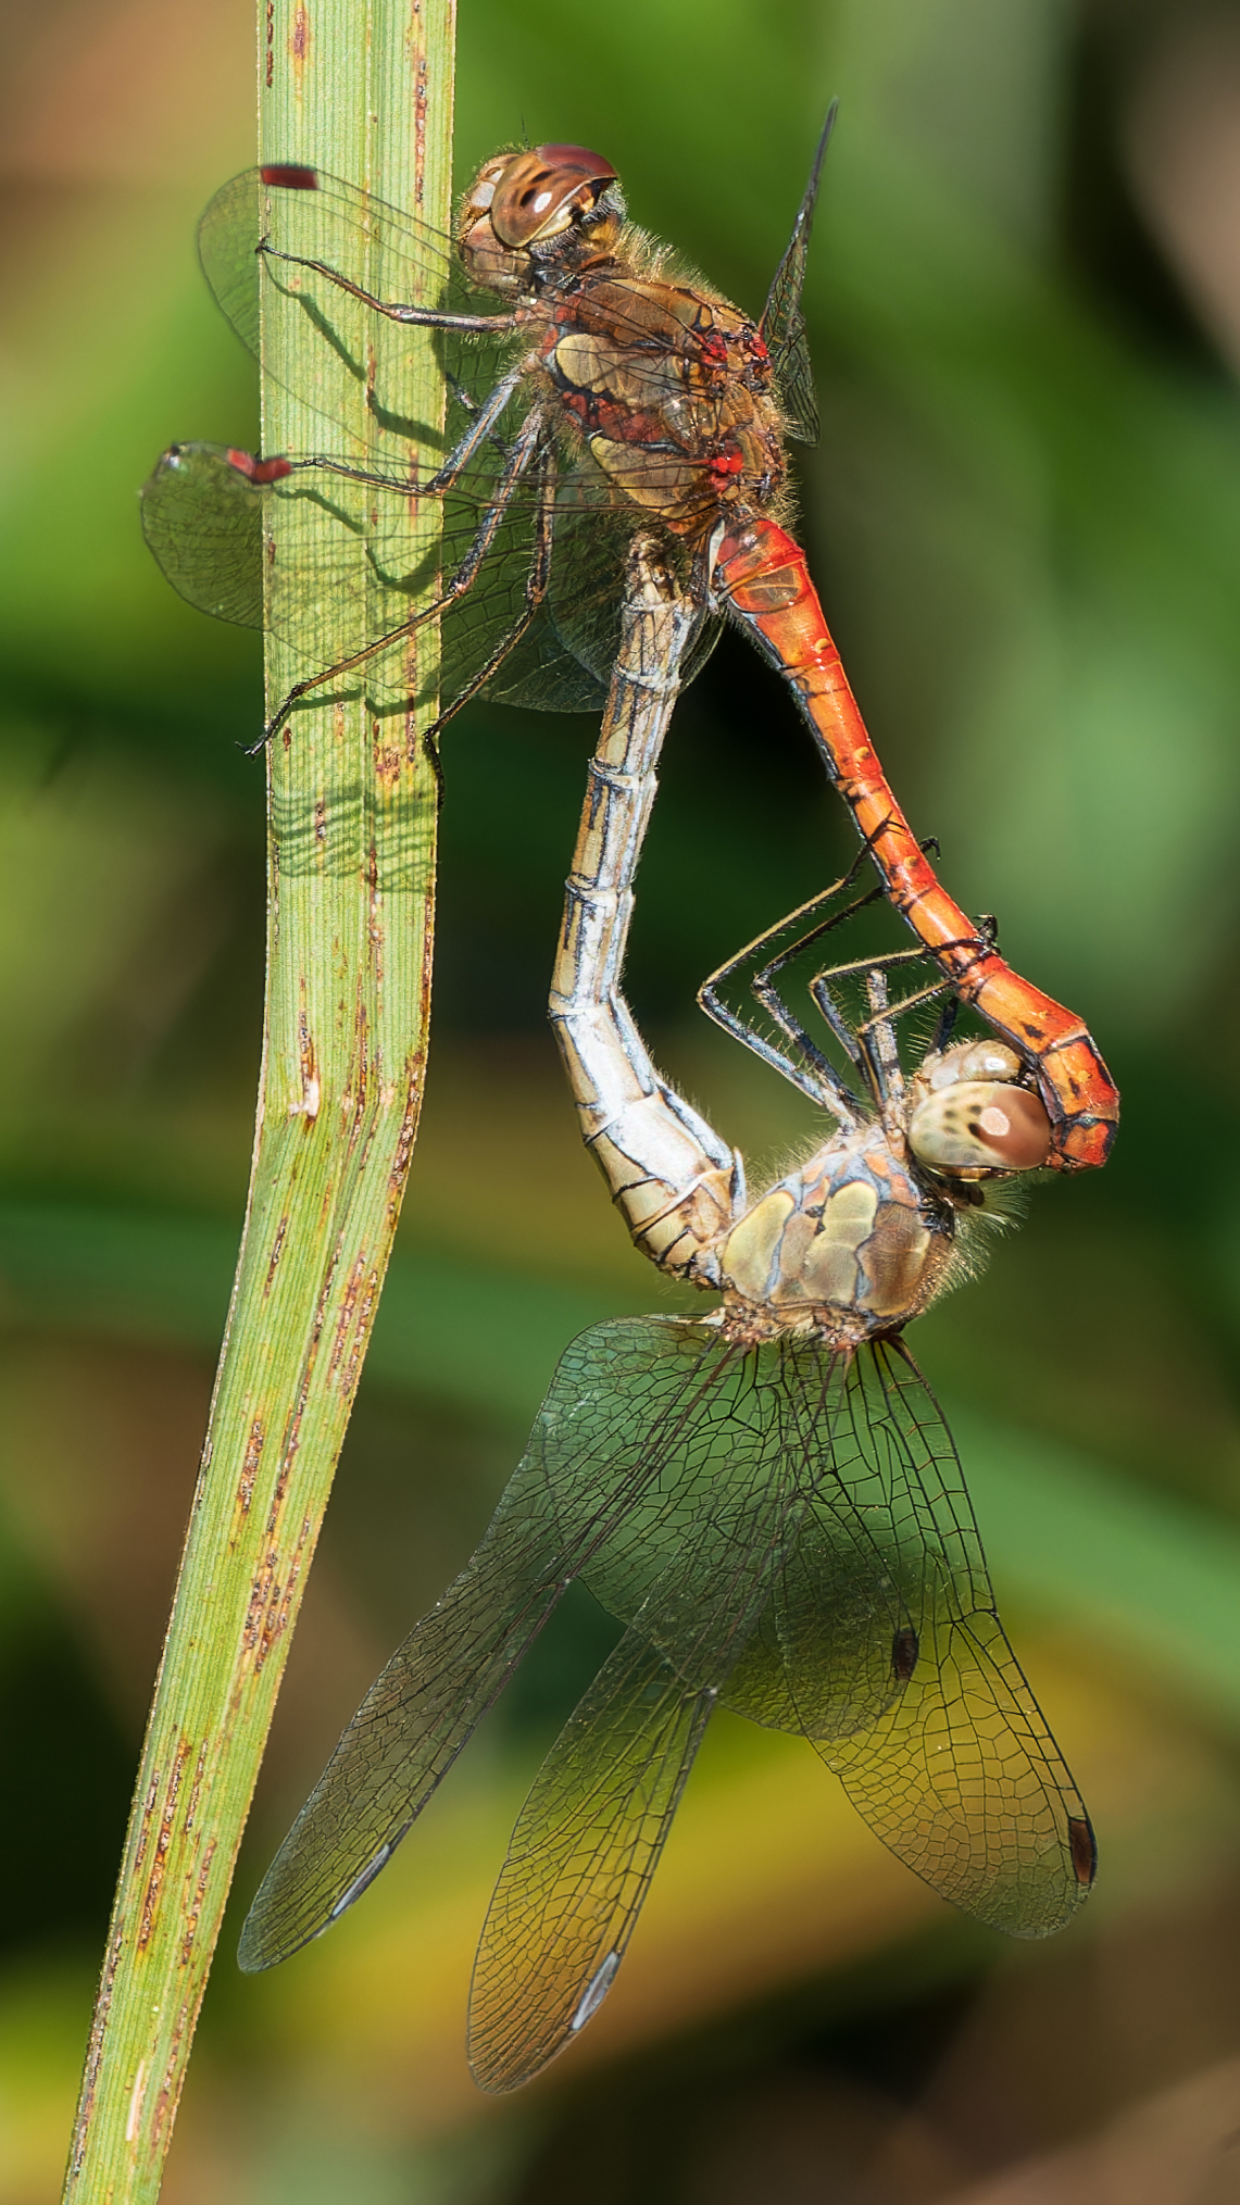
{"label": "red-tailed upper dragonfly clinging to the grass blade, wings included", "polygon": [[[750,633],[810,723],[887,897],[958,999],[1030,1063],[1052,1125],[1050,1162],[1079,1171],[1105,1162],[1119,1118],[1101,1054],[1086,1025],[1013,972],[942,889],[874,754],[805,556],[781,523],[783,439],[812,441],[819,426],[799,300],[832,121],[834,110],[757,324],[673,271],[664,249],[627,223],[611,163],[580,146],[485,161],[455,240],[311,168],[234,179],[203,216],[201,256],[245,342],[258,351],[263,280],[311,315],[333,362],[362,381],[368,364],[338,337],[333,300],[437,329],[463,430],[426,481],[408,465],[364,467],[353,454],[256,461],[174,445],[146,485],[143,527],[174,587],[221,617],[267,620],[304,648],[316,604],[355,609],[355,646],[331,666],[309,664],[265,741],[302,697],[408,644],[408,609],[375,635],[375,604],[426,580],[426,562],[408,571],[415,492],[443,501],[432,732],[479,695],[600,706],[627,549],[638,529],[655,527],[680,589],[702,611],[682,677],[710,648],[710,615]],[[428,282],[439,289],[435,306],[402,302]],[[503,311],[479,313],[479,291]],[[417,423],[399,423],[395,395],[388,404],[371,390],[368,404],[410,443],[426,441]],[[289,496],[313,498],[333,529],[309,564],[271,569],[263,606],[263,509]]]}

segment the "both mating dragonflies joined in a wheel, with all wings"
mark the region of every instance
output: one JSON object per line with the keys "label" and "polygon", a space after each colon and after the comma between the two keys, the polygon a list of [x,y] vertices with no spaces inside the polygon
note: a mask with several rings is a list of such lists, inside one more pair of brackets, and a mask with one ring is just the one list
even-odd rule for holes
{"label": "both mating dragonflies joined in a wheel, with all wings", "polygon": [[[252,340],[267,280],[324,342],[344,291],[457,346],[466,426],[419,485],[443,498],[459,547],[437,606],[441,719],[470,695],[582,703],[607,684],[552,1021],[633,1239],[719,1294],[706,1319],[598,1325],[567,1349],[485,1539],[366,1696],[245,1925],[243,1967],[267,1967],[366,1890],[580,1579],[624,1636],[547,1755],[492,1899],[470,2018],[492,2090],[536,2075],[602,2002],[719,1700],[808,1735],[885,1843],[1002,1929],[1057,1929],[1094,1872],[1086,1810],[995,1614],[951,1435],[900,1334],[969,1266],[1013,1175],[1105,1158],[1116,1098],[1081,1023],[1011,972],[993,928],[936,880],[777,518],[783,432],[814,430],[799,289],[823,150],[825,135],[757,326],[669,278],[624,225],[613,170],[582,148],[485,163],[452,256],[309,170],[238,179],[203,223],[216,295]],[[360,223],[371,271],[377,258],[388,276],[441,273],[437,306],[353,280]],[[470,311],[461,278],[505,311]],[[516,357],[474,399],[468,346],[490,340]],[[503,432],[510,408],[519,426]],[[146,492],[148,538],[194,602],[260,617],[265,503],[322,503],[333,485],[364,492],[368,564],[391,578],[410,481],[349,454],[177,448]],[[324,547],[309,589],[340,593],[346,569]],[[276,571],[267,617],[285,635],[304,593],[304,576]],[[620,994],[662,739],[719,613],[788,677],[878,871],[878,889],[852,893],[849,875],[702,992],[834,1125],[755,1202],[741,1158],[658,1076]],[[364,617],[360,604],[351,657],[311,666],[267,736],[408,639],[408,620],[375,642]],[[783,975],[880,895],[918,946],[816,972],[819,1045]],[[918,983],[894,1001],[907,968]],[[741,972],[766,1025],[726,1001]],[[907,1076],[898,1021],[933,999],[938,1030]],[[991,1034],[953,1041],[960,1005]]]}

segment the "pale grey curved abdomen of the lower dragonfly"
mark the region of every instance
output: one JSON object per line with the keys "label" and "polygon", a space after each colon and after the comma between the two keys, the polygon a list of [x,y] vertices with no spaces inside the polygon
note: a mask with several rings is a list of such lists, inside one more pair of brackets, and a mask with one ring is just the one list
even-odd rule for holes
{"label": "pale grey curved abdomen of the lower dragonfly", "polygon": [[699,609],[673,591],[653,538],[638,536],[547,1012],[582,1140],[633,1241],[660,1270],[717,1286],[710,1248],[746,1208],[744,1164],[660,1078],[620,994],[633,871],[697,622]]}

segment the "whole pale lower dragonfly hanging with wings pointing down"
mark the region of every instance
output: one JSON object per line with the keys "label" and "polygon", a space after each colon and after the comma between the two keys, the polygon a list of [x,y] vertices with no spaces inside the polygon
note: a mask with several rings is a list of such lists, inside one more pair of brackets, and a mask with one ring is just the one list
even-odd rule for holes
{"label": "whole pale lower dragonfly hanging with wings pointing down", "polygon": [[[991,1039],[951,1043],[949,1003],[905,1076],[896,1019],[944,983],[931,970],[891,1003],[889,972],[922,957],[900,950],[814,981],[845,1078],[781,994],[790,957],[841,919],[830,900],[825,917],[805,906],[702,997],[832,1120],[750,1200],[739,1153],[660,1078],[620,994],[697,620],[658,540],[638,538],[552,1021],[635,1244],[719,1303],[697,1321],[596,1325],[565,1352],[481,1546],[366,1693],[240,1943],[245,1969],[269,1967],[353,1905],[580,1579],[627,1629],[538,1771],[490,1905],[470,2011],[488,2090],[527,2082],[598,2011],[719,1702],[803,1733],[872,1830],[997,1929],[1059,1929],[1094,1876],[1086,1808],[1002,1632],[951,1435],[902,1343],[966,1268],[995,1188],[1048,1158],[1022,1061]],[[728,1008],[737,970],[772,1034]],[[856,972],[865,1010],[849,1021],[841,986]]]}

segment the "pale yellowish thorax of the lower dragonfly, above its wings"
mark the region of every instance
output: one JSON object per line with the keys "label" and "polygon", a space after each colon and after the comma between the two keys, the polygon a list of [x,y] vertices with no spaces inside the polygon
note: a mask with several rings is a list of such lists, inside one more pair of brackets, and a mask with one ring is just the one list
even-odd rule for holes
{"label": "pale yellowish thorax of the lower dragonfly, above its wings", "polygon": [[947,1283],[953,1230],[953,1202],[883,1125],[834,1133],[726,1235],[724,1330],[737,1341],[810,1330],[838,1347],[898,1332]]}

